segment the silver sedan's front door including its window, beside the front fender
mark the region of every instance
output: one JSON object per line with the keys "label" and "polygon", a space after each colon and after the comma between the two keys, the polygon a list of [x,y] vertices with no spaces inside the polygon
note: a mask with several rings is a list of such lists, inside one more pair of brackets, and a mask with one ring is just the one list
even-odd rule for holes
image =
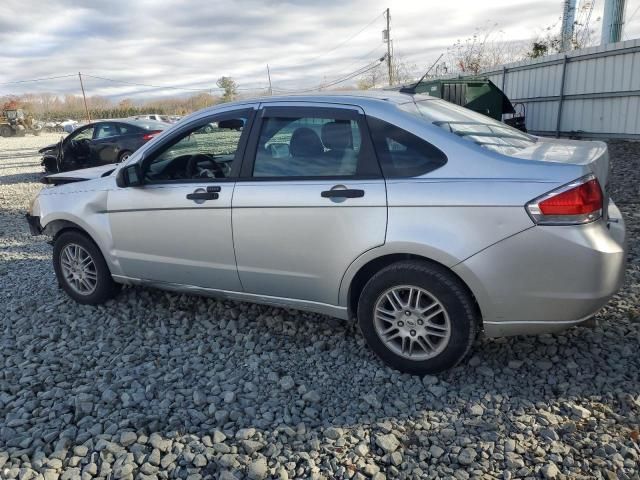
{"label": "silver sedan's front door including its window, beside the front fender", "polygon": [[126,277],[241,291],[231,198],[253,110],[194,120],[145,152],[142,186],[109,193],[113,254]]}

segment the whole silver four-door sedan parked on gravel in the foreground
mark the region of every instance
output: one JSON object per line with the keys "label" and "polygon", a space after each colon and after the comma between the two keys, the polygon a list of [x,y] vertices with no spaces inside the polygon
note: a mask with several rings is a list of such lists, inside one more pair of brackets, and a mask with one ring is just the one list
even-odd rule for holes
{"label": "whole silver four-door sedan parked on gravel in the foreground", "polygon": [[606,144],[423,95],[225,104],[113,168],[49,176],[67,183],[27,217],[74,300],[140,284],[355,317],[404,372],[456,365],[479,331],[579,325],[625,270]]}

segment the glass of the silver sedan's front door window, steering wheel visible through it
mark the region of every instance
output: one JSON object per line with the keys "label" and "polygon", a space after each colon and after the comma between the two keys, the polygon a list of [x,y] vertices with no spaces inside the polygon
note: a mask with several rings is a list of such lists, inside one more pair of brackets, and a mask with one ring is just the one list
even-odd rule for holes
{"label": "glass of the silver sedan's front door window, steering wheel visible through it", "polygon": [[146,182],[229,178],[238,162],[248,112],[200,124],[154,153],[143,166]]}

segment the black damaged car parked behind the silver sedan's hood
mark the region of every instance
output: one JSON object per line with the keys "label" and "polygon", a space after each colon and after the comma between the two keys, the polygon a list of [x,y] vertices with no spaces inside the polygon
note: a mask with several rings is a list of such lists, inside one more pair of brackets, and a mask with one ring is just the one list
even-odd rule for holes
{"label": "black damaged car parked behind the silver sedan's hood", "polygon": [[66,138],[39,150],[46,172],[122,162],[167,128],[151,120],[100,120],[77,127]]}

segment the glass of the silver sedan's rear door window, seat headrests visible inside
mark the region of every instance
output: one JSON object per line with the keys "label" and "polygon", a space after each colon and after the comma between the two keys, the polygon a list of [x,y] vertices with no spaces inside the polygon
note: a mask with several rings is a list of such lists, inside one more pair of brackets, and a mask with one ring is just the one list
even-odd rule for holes
{"label": "glass of the silver sedan's rear door window, seat headrests visible inside", "polygon": [[[253,176],[335,177],[370,174],[359,122],[326,116],[266,117]],[[369,160],[371,160],[369,158]]]}

